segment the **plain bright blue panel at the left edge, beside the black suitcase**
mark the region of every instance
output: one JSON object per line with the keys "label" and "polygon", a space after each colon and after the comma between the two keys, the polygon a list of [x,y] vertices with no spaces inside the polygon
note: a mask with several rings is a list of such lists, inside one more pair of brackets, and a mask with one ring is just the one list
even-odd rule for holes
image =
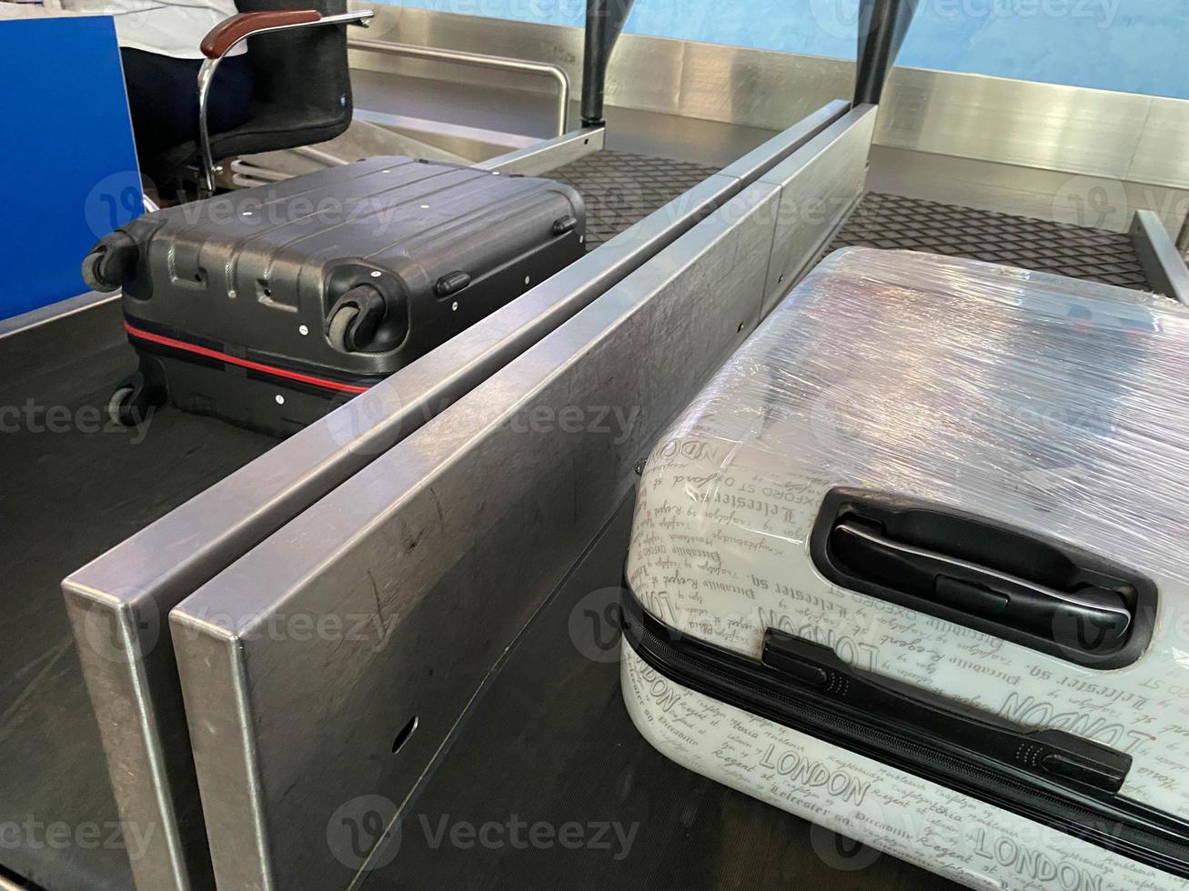
{"label": "plain bright blue panel at the left edge, beside the black suitcase", "polygon": [[87,290],[82,259],[140,213],[109,17],[0,20],[0,318]]}

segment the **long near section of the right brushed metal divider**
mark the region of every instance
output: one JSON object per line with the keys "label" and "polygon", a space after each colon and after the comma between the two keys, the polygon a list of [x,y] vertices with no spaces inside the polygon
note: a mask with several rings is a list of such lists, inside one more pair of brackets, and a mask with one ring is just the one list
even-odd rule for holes
{"label": "long near section of the right brushed metal divider", "polygon": [[[353,880],[328,843],[342,808],[404,800],[636,462],[757,324],[778,194],[744,189],[172,611],[220,889]],[[378,624],[357,642],[268,631],[316,615]]]}

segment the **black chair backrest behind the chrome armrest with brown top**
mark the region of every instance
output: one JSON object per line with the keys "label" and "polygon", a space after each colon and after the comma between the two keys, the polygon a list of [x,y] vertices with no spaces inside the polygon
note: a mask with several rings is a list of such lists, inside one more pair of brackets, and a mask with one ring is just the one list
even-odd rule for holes
{"label": "black chair backrest behind the chrome armrest with brown top", "polygon": [[[317,10],[323,15],[347,11],[346,0],[237,0],[240,12]],[[309,127],[351,122],[351,72],[346,27],[303,27],[249,39],[253,77],[253,116],[269,108],[287,116],[301,113]],[[298,125],[301,126],[301,125]]]}

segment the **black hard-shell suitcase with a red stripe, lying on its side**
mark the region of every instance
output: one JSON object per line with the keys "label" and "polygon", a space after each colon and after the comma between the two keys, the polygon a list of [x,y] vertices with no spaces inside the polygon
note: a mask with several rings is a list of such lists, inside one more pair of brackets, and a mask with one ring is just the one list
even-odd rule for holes
{"label": "black hard-shell suitcase with a red stripe, lying on its side", "polygon": [[578,259],[584,226],[567,185],[402,157],[147,214],[83,261],[140,356],[109,412],[291,434]]}

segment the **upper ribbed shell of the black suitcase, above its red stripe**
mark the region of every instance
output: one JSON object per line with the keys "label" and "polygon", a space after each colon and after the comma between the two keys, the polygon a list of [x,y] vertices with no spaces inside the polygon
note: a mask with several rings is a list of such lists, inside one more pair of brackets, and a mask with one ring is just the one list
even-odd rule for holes
{"label": "upper ribbed shell of the black suitcase, above its red stripe", "polygon": [[[157,336],[133,336],[149,352],[176,355],[162,347],[164,336],[366,386],[578,259],[584,223],[583,200],[567,185],[370,158],[134,220],[122,232],[140,260],[124,282],[124,309],[133,334]],[[460,273],[467,284],[452,290]],[[358,285],[403,301],[408,334],[400,342],[365,352],[331,342],[335,301]],[[262,377],[243,368],[229,367]],[[227,399],[235,392],[209,374],[206,381],[187,384],[218,387]],[[270,392],[253,397],[263,412]]]}

